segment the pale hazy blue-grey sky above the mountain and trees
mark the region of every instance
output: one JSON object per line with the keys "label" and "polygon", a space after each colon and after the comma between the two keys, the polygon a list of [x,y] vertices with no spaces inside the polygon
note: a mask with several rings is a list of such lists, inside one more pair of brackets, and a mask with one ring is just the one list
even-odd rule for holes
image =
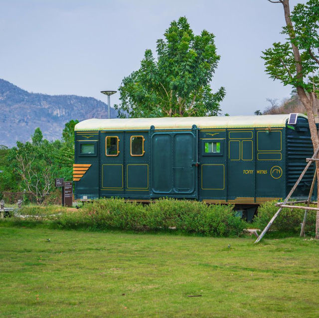
{"label": "pale hazy blue-grey sky above the mountain and trees", "polygon": [[[298,2],[306,1],[291,0],[291,9]],[[283,38],[283,7],[267,0],[0,0],[0,78],[106,102],[100,91],[117,90],[180,16],[195,34],[215,34],[221,59],[211,86],[226,88],[222,113],[253,114],[266,98],[289,97],[291,87],[269,79],[260,58]]]}

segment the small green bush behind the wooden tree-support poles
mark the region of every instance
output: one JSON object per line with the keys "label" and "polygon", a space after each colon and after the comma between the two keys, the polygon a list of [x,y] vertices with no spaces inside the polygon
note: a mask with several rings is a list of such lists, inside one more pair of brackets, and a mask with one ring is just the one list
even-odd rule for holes
{"label": "small green bush behind the wooden tree-support poles", "polygon": [[[267,202],[258,208],[258,213],[254,218],[254,225],[263,229],[279,207],[275,206],[275,202]],[[284,208],[275,219],[271,226],[272,230],[280,232],[300,233],[300,223],[303,222],[305,210]],[[316,232],[316,212],[310,211],[307,215],[305,232],[308,235],[315,235]]]}

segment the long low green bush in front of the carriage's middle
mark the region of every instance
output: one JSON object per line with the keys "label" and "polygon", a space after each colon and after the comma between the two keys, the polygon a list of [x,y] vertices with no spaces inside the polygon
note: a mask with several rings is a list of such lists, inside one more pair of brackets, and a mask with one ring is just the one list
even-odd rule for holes
{"label": "long low green bush in front of the carriage's middle", "polygon": [[196,201],[160,199],[149,205],[128,203],[123,199],[101,199],[76,212],[57,218],[62,228],[107,228],[131,230],[168,230],[208,236],[236,236],[246,222],[235,216],[233,206],[210,205]]}

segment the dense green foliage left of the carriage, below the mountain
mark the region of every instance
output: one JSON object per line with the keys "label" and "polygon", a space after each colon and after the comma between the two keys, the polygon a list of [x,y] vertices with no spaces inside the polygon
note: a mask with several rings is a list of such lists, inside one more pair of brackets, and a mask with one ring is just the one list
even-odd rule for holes
{"label": "dense green foliage left of the carriage, below the mountain", "polygon": [[[2,191],[31,193],[37,203],[57,203],[54,178],[72,180],[74,162],[74,126],[77,120],[65,124],[62,141],[43,139],[40,128],[31,136],[32,142],[17,141],[16,147],[0,147],[0,193]],[[47,197],[48,196],[48,197]],[[46,200],[45,200],[46,199]]]}

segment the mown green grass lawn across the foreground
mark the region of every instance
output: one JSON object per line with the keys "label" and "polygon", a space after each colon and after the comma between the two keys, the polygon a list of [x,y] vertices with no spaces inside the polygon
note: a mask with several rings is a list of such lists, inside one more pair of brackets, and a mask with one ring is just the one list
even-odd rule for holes
{"label": "mown green grass lawn across the foreground", "polygon": [[254,239],[0,227],[0,317],[318,318],[319,242]]}

